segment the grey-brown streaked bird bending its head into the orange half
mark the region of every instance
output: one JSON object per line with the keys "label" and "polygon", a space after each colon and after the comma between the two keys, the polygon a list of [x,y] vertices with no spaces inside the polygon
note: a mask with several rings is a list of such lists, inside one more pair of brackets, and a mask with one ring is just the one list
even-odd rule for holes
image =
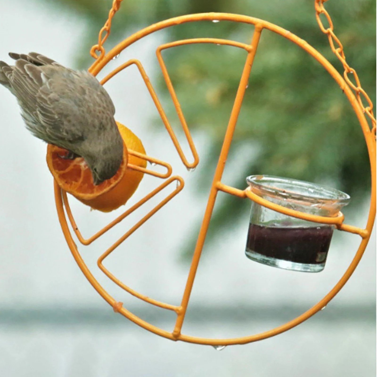
{"label": "grey-brown streaked bird bending its head into the orange half", "polygon": [[123,139],[115,106],[97,78],[36,52],[9,56],[15,63],[0,61],[0,84],[17,98],[26,128],[68,150],[61,157],[82,157],[94,185],[112,178],[123,161]]}

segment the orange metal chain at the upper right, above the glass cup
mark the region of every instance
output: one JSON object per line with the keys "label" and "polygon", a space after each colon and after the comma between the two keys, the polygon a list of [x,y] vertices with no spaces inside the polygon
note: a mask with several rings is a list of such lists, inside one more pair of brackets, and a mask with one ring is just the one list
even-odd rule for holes
{"label": "orange metal chain at the upper right, above the glass cup", "polygon": [[[360,107],[363,109],[363,112],[366,113],[366,115],[369,116],[369,118],[372,121],[372,133],[374,135],[376,134],[376,119],[373,114],[373,103],[371,99],[369,98],[368,94],[366,94],[365,90],[361,87],[359,77],[357,76],[356,70],[351,68],[347,62],[346,57],[344,54],[342,43],[340,43],[339,38],[334,33],[334,25],[333,21],[331,20],[330,15],[326,11],[325,7],[323,6],[323,3],[325,3],[328,0],[315,0],[314,6],[316,9],[316,19],[318,22],[318,25],[323,33],[327,34],[327,37],[329,39],[331,50],[333,50],[334,54],[338,57],[340,62],[343,64],[344,67],[344,79],[346,83],[355,91],[357,101],[359,102]],[[326,17],[326,20],[328,22],[328,27],[325,28],[323,26],[322,20],[320,19],[320,14],[324,14]],[[353,75],[353,79],[355,83],[352,83],[350,78],[348,77],[348,74]],[[363,104],[362,97],[364,97],[365,101],[368,103],[366,106]]]}

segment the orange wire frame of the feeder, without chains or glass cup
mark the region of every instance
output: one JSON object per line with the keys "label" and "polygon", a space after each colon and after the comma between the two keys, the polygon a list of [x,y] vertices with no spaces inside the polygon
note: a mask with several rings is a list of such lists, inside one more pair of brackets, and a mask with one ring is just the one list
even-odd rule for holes
{"label": "orange wire frame of the feeder, without chains or glass cup", "polygon": [[[347,282],[351,274],[354,272],[355,268],[357,267],[363,252],[365,251],[366,245],[368,243],[373,223],[374,223],[374,218],[375,218],[375,138],[374,134],[371,132],[368,126],[368,122],[365,118],[365,115],[363,114],[362,108],[357,101],[356,97],[352,93],[351,88],[348,86],[344,78],[337,72],[337,70],[318,52],[316,51],[312,46],[310,46],[306,41],[302,40],[301,38],[297,37],[296,35],[292,34],[290,31],[287,31],[283,28],[280,28],[279,26],[276,26],[272,23],[269,23],[264,20],[260,20],[257,18],[253,17],[248,17],[244,15],[235,15],[235,14],[227,14],[227,13],[202,13],[202,14],[193,14],[193,15],[184,15],[180,17],[175,17],[171,18],[169,20],[164,20],[159,23],[156,23],[154,25],[148,26],[147,28],[142,29],[141,31],[136,32],[135,34],[131,35],[130,37],[126,38],[124,41],[119,43],[117,46],[115,46],[109,53],[106,55],[103,55],[102,57],[100,56],[97,61],[90,67],[89,71],[93,75],[97,75],[100,70],[110,61],[112,60],[113,57],[116,55],[120,54],[121,51],[123,51],[125,48],[130,46],[132,43],[138,41],[139,39],[145,37],[146,35],[149,35],[155,31],[168,28],[170,26],[178,25],[181,23],[185,22],[194,22],[194,21],[235,21],[235,22],[242,22],[250,25],[254,25],[254,35],[251,40],[250,45],[244,45],[244,44],[239,44],[234,41],[225,41],[225,40],[216,40],[216,39],[211,39],[211,38],[196,38],[196,39],[191,39],[191,40],[182,40],[182,41],[175,41],[173,43],[168,43],[165,45],[160,46],[157,49],[157,57],[159,64],[161,66],[162,74],[164,76],[164,79],[166,81],[167,87],[169,89],[170,95],[172,96],[173,103],[175,105],[175,108],[177,110],[179,119],[182,124],[182,128],[184,129],[185,135],[187,137],[187,141],[189,142],[190,149],[192,150],[193,156],[194,156],[194,162],[192,164],[189,164],[187,162],[187,159],[185,158],[181,148],[179,147],[179,143],[177,139],[175,138],[174,132],[170,127],[169,122],[167,121],[166,115],[164,113],[164,110],[162,109],[161,104],[158,101],[158,98],[156,96],[155,91],[153,90],[152,85],[150,84],[149,79],[147,78],[147,75],[141,66],[141,63],[133,60],[129,61],[126,64],[123,65],[123,68],[125,66],[129,66],[130,64],[135,63],[139,71],[144,79],[144,82],[147,85],[147,88],[149,90],[150,95],[152,96],[152,99],[158,109],[159,114],[161,115],[162,121],[165,124],[165,127],[167,131],[169,132],[170,137],[172,138],[172,141],[177,149],[177,152],[179,156],[182,159],[182,162],[186,167],[192,167],[195,166],[195,163],[197,163],[198,156],[195,155],[195,146],[192,143],[192,139],[190,136],[189,129],[187,127],[187,124],[184,121],[184,116],[183,113],[181,112],[181,107],[179,105],[178,99],[175,95],[172,83],[170,81],[169,75],[167,73],[167,69],[165,64],[163,63],[162,60],[162,55],[161,51],[165,48],[170,48],[174,46],[179,46],[182,44],[188,44],[188,43],[219,43],[219,44],[228,44],[231,46],[236,46],[236,47],[241,47],[244,48],[247,51],[247,58],[245,61],[244,69],[242,72],[241,80],[239,83],[238,91],[236,94],[236,98],[234,101],[234,106],[230,115],[230,120],[228,123],[228,127],[226,130],[225,138],[224,138],[224,143],[220,152],[219,160],[218,160],[218,165],[215,170],[213,182],[211,185],[210,193],[209,193],[209,198],[207,202],[207,207],[204,213],[204,218],[202,221],[202,226],[201,230],[199,232],[198,240],[196,243],[196,247],[194,250],[193,258],[192,258],[192,264],[190,267],[189,275],[187,278],[187,283],[185,286],[184,294],[182,296],[182,301],[180,306],[175,306],[175,305],[169,305],[165,303],[160,303],[157,302],[153,299],[149,299],[148,297],[139,294],[123,283],[121,283],[118,279],[116,279],[114,276],[112,276],[109,271],[107,271],[103,265],[102,261],[103,259],[108,256],[121,242],[123,242],[133,231],[135,231],[139,226],[141,226],[147,219],[149,219],[156,211],[158,211],[164,204],[166,204],[167,201],[173,198],[174,195],[178,192],[173,192],[167,198],[164,199],[164,201],[160,202],[157,207],[155,207],[152,211],[150,211],[143,219],[141,219],[137,224],[135,224],[126,234],[124,234],[123,237],[121,237],[115,244],[112,245],[104,254],[100,256],[98,259],[98,265],[102,269],[104,273],[107,274],[107,276],[110,277],[116,284],[118,284],[120,287],[124,288],[126,291],[129,293],[133,294],[136,297],[139,297],[140,299],[147,301],[149,303],[152,303],[153,305],[157,305],[159,307],[163,307],[169,310],[174,310],[177,313],[177,320],[175,324],[174,330],[170,333],[168,331],[165,331],[163,329],[158,328],[157,326],[154,326],[150,323],[147,323],[146,321],[140,319],[139,317],[135,316],[132,314],[129,310],[123,307],[123,304],[121,302],[117,302],[110,294],[108,294],[103,287],[98,283],[98,281],[94,278],[92,273],[89,271],[87,268],[86,264],[84,263],[80,253],[78,252],[77,246],[75,245],[75,242],[72,238],[72,234],[69,231],[68,224],[67,224],[67,219],[64,214],[64,208],[63,208],[63,201],[66,204],[66,209],[67,209],[67,215],[68,218],[72,224],[72,227],[74,228],[74,231],[76,235],[78,236],[79,241],[81,241],[84,244],[89,244],[90,242],[94,241],[97,239],[99,236],[101,236],[103,233],[105,233],[109,228],[114,226],[115,224],[118,224],[123,218],[125,218],[129,213],[131,213],[135,206],[140,207],[144,202],[146,202],[151,196],[153,196],[154,192],[158,190],[159,188],[155,189],[152,191],[149,195],[147,195],[145,198],[143,198],[140,202],[138,202],[134,207],[131,207],[129,210],[127,210],[123,215],[119,216],[117,219],[115,219],[113,222],[111,222],[107,227],[105,227],[103,230],[95,234],[92,238],[89,240],[83,240],[83,238],[79,236],[79,232],[77,229],[77,226],[74,222],[72,213],[70,213],[69,209],[69,204],[66,198],[65,193],[61,192],[61,189],[58,187],[57,183],[55,182],[55,201],[57,205],[57,211],[58,211],[58,217],[59,221],[64,233],[64,236],[66,238],[67,244],[69,245],[69,248],[75,258],[75,261],[81,268],[81,271],[83,271],[84,275],[87,277],[89,280],[90,284],[95,288],[95,290],[98,291],[98,293],[113,307],[114,311],[122,314],[123,316],[127,317],[130,319],[132,322],[136,323],[137,325],[159,335],[166,337],[167,339],[171,340],[181,340],[185,342],[191,342],[191,343],[199,343],[199,344],[205,344],[205,345],[232,345],[232,344],[244,344],[244,343],[249,343],[249,342],[255,342],[257,340],[262,340],[277,334],[280,334],[284,331],[287,331],[291,328],[293,328],[296,325],[299,325],[309,317],[313,316],[317,311],[319,311],[321,308],[325,307],[327,303],[333,299],[333,297],[340,291],[340,289],[344,286],[344,284]],[[268,29],[270,31],[275,32],[278,35],[281,35],[282,37],[287,38],[289,41],[296,43],[299,47],[301,47],[305,52],[310,54],[312,57],[314,57],[326,70],[327,72],[334,78],[336,83],[340,86],[340,88],[344,91],[346,97],[348,98],[352,108],[354,109],[354,112],[357,115],[357,118],[359,120],[363,135],[365,137],[366,145],[368,148],[368,154],[369,154],[369,162],[371,166],[371,203],[370,203],[370,209],[369,209],[369,215],[368,215],[368,220],[366,223],[365,229],[362,228],[357,228],[353,227],[351,225],[346,225],[343,224],[343,219],[344,216],[341,213],[338,213],[334,218],[323,218],[321,216],[312,216],[312,215],[307,215],[298,211],[292,211],[284,207],[280,207],[276,204],[273,204],[269,201],[266,201],[265,199],[259,198],[259,196],[255,195],[253,192],[251,192],[249,189],[245,190],[239,190],[234,187],[230,187],[227,185],[222,184],[221,182],[221,177],[222,173],[224,171],[225,167],[225,162],[227,159],[228,151],[231,145],[232,141],[232,136],[234,129],[236,127],[237,119],[238,119],[238,114],[241,109],[242,105],[242,100],[244,98],[245,94],[245,89],[248,85],[248,79],[251,71],[251,67],[253,64],[254,56],[257,51],[257,46],[259,43],[260,35],[263,29]],[[220,42],[219,42],[220,41]],[[122,66],[121,66],[122,67]],[[121,67],[118,67],[116,70],[114,70],[109,76],[107,76],[104,81],[107,81],[110,77],[113,77],[117,72],[119,72]],[[107,80],[106,80],[107,79]],[[183,188],[183,179],[181,177],[175,176],[170,178],[167,182],[171,182],[172,180],[178,180],[179,181],[179,188],[177,190],[182,190]],[[168,184],[168,183],[167,183]],[[163,186],[162,184],[161,186]],[[161,187],[160,186],[160,187]],[[207,233],[208,225],[211,219],[213,207],[215,205],[216,201],[216,196],[218,191],[222,191],[225,193],[228,193],[230,195],[235,195],[240,198],[248,198],[253,201],[258,202],[261,205],[264,205],[268,208],[271,208],[275,211],[285,213],[290,216],[294,216],[297,218],[301,219],[308,219],[310,221],[315,221],[315,222],[326,222],[327,224],[334,224],[336,227],[340,230],[348,231],[351,233],[356,233],[359,234],[362,237],[362,241],[360,243],[360,246],[354,256],[354,259],[352,260],[351,264],[343,274],[343,276],[340,278],[340,280],[337,282],[337,284],[333,287],[329,293],[323,297],[322,300],[320,300],[316,305],[314,305],[312,308],[307,310],[305,313],[301,314],[297,318],[285,323],[284,325],[278,326],[274,329],[271,329],[269,331],[265,331],[260,334],[254,334],[250,336],[244,336],[244,337],[238,337],[238,338],[231,338],[231,339],[207,339],[207,338],[201,338],[201,337],[193,337],[189,335],[185,335],[181,333],[181,328],[182,324],[184,321],[185,317],[185,312],[187,310],[187,305],[189,303],[189,298],[190,298],[190,293],[192,290],[193,282],[195,279],[195,274],[196,270],[199,264],[199,259],[201,256],[201,251],[202,247],[204,244],[205,236]],[[67,205],[68,204],[68,205]],[[84,241],[84,242],[83,242]]]}

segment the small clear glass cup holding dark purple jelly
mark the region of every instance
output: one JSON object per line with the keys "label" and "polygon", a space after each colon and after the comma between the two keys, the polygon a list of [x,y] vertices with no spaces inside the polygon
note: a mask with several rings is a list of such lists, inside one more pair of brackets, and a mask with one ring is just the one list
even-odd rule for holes
{"label": "small clear glass cup holding dark purple jelly", "polygon": [[[246,178],[263,199],[296,211],[334,216],[350,197],[330,187],[269,175]],[[245,254],[253,261],[286,270],[319,272],[335,226],[297,219],[252,201]]]}

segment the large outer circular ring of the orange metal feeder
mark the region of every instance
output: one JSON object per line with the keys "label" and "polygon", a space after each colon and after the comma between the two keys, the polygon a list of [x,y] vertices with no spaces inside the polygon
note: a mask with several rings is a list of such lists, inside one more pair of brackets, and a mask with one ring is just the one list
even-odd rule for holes
{"label": "large outer circular ring of the orange metal feeder", "polygon": [[[291,328],[293,328],[296,325],[299,325],[303,321],[307,320],[313,314],[317,313],[321,308],[326,306],[326,304],[340,291],[340,289],[343,287],[343,285],[347,282],[351,274],[354,272],[355,268],[357,267],[364,251],[366,248],[366,245],[368,244],[369,237],[372,231],[372,227],[374,224],[374,218],[375,218],[375,139],[373,132],[370,131],[368,122],[366,121],[365,115],[363,114],[363,111],[355,98],[354,94],[352,93],[352,90],[350,87],[346,84],[343,77],[337,72],[337,70],[332,66],[328,60],[323,57],[316,49],[314,49],[310,44],[308,44],[306,41],[302,40],[301,38],[297,37],[296,35],[292,34],[291,32],[280,28],[277,25],[274,25],[268,21],[264,21],[258,18],[254,17],[248,17],[245,15],[237,15],[237,14],[228,14],[228,13],[202,13],[202,14],[192,14],[192,15],[184,15],[180,17],[170,18],[169,20],[164,20],[161,22],[158,22],[156,24],[153,24],[151,26],[148,26],[135,34],[132,34],[130,37],[123,40],[121,43],[119,43],[117,46],[115,46],[109,53],[107,53],[104,57],[99,58],[89,69],[89,71],[93,75],[97,75],[100,70],[106,66],[106,64],[112,60],[113,57],[120,54],[121,51],[123,51],[125,48],[130,46],[131,44],[135,43],[136,41],[140,40],[141,38],[145,37],[146,35],[149,35],[153,32],[159,31],[164,28],[168,28],[170,26],[179,25],[181,23],[186,22],[195,22],[195,21],[234,21],[234,22],[241,22],[246,23],[250,25],[255,25],[261,29],[268,29],[272,32],[275,32],[276,34],[281,35],[284,38],[287,38],[289,41],[297,44],[302,48],[305,52],[310,54],[312,57],[314,57],[326,70],[327,72],[334,78],[336,83],[340,86],[342,90],[344,90],[344,93],[346,97],[348,98],[354,112],[356,113],[356,116],[359,120],[360,126],[362,128],[362,132],[365,137],[366,146],[368,148],[368,154],[369,154],[369,161],[371,165],[371,183],[372,183],[372,192],[371,192],[371,203],[370,203],[370,209],[369,209],[369,215],[368,215],[368,221],[366,224],[366,236],[362,239],[360,246],[356,252],[356,255],[354,256],[351,264],[343,274],[343,276],[340,278],[340,280],[337,282],[337,284],[333,287],[331,291],[329,291],[328,294],[326,294],[325,297],[323,297],[322,300],[320,300],[316,305],[314,305],[312,308],[307,310],[305,313],[301,314],[297,318],[285,323],[284,325],[278,326],[274,329],[271,329],[269,331],[265,331],[263,333],[254,334],[250,336],[244,336],[239,338],[230,338],[230,339],[206,339],[201,337],[193,337],[188,336],[184,334],[174,334],[169,333],[168,331],[162,330],[156,326],[151,325],[150,323],[147,323],[146,321],[140,319],[139,317],[132,314],[130,311],[126,310],[124,307],[120,307],[117,304],[117,301],[113,299],[110,294],[108,294],[103,287],[98,283],[98,281],[95,279],[95,277],[92,275],[92,273],[87,268],[86,264],[84,263],[83,259],[81,258],[80,253],[78,252],[77,246],[75,245],[75,242],[72,238],[72,234],[69,231],[68,225],[67,225],[67,219],[64,213],[64,207],[63,207],[63,201],[61,198],[61,189],[58,187],[57,183],[55,182],[55,202],[57,206],[58,211],[58,217],[61,224],[61,228],[64,233],[64,237],[67,241],[67,244],[75,258],[75,261],[77,262],[78,266],[80,267],[81,271],[84,273],[86,278],[89,280],[90,284],[95,288],[95,290],[98,291],[98,293],[111,305],[111,307],[117,308],[117,311],[119,313],[123,314],[123,316],[130,319],[132,322],[136,323],[137,325],[152,331],[153,333],[166,337],[171,340],[182,340],[185,342],[191,342],[191,343],[198,343],[198,344],[204,344],[204,345],[233,345],[233,344],[244,344],[249,342],[255,342],[257,340],[266,339],[268,337],[280,334],[284,331],[287,331]],[[115,305],[115,306],[114,306]]]}

